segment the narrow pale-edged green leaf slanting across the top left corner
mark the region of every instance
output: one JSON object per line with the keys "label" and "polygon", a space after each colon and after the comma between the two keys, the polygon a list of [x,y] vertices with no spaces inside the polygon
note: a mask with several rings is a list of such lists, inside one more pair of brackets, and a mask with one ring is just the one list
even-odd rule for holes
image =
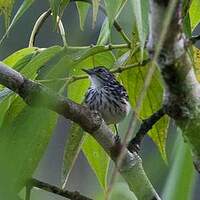
{"label": "narrow pale-edged green leaf slanting across the top left corner", "polygon": [[[6,0],[7,1],[7,0]],[[16,24],[16,22],[22,17],[22,15],[28,10],[28,8],[33,4],[34,0],[24,0],[20,8],[18,9],[17,13],[15,14],[14,18],[12,19],[8,29],[6,30],[6,33],[3,35],[3,37],[0,40],[0,45],[4,41],[4,39],[7,37],[8,33],[12,29],[12,27]]]}

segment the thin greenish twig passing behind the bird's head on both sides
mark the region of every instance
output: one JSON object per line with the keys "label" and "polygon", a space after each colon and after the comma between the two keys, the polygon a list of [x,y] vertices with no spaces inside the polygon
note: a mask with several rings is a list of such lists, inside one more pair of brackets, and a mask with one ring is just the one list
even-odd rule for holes
{"label": "thin greenish twig passing behind the bird's head on both sides", "polygon": [[[124,71],[127,71],[127,70],[130,70],[130,69],[133,69],[133,68],[136,68],[136,67],[143,67],[145,66],[147,63],[150,62],[150,59],[146,59],[146,60],[143,60],[142,63],[133,63],[133,64],[130,64],[130,65],[125,65],[124,67],[117,67],[117,68],[114,68],[114,69],[111,69],[110,71],[112,73],[122,73]],[[79,80],[83,80],[83,79],[87,79],[88,76],[87,75],[77,75],[77,76],[70,76],[70,77],[65,77],[65,78],[54,78],[54,79],[44,79],[44,80],[37,80],[38,82],[40,83],[51,83],[51,82],[57,82],[57,81],[67,81],[67,85],[75,82],[75,81],[79,81]]]}

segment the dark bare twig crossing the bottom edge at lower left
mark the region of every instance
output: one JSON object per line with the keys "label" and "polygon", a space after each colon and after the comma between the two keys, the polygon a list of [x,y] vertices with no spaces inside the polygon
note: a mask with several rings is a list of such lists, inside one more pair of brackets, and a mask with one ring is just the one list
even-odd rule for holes
{"label": "dark bare twig crossing the bottom edge at lower left", "polygon": [[62,190],[62,189],[60,189],[60,188],[58,188],[54,185],[44,183],[44,182],[39,181],[37,179],[32,179],[30,181],[30,184],[31,184],[32,187],[39,188],[39,189],[45,190],[47,192],[57,194],[59,196],[66,197],[66,198],[71,199],[71,200],[92,200],[91,198],[86,197],[86,196],[80,194],[77,191],[71,192],[71,191],[68,191],[68,190]]}

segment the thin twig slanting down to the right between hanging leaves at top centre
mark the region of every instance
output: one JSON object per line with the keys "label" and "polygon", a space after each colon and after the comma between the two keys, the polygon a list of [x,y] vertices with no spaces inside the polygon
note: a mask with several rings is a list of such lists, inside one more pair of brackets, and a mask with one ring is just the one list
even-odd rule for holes
{"label": "thin twig slanting down to the right between hanging leaves at top centre", "polygon": [[[81,2],[86,2],[86,3],[92,4],[91,0],[71,0],[71,1],[75,1],[75,2],[81,1]],[[99,9],[102,11],[102,13],[104,13],[105,16],[107,16],[106,10],[101,4],[99,5]],[[131,41],[130,41],[129,37],[124,32],[123,28],[121,27],[121,25],[119,24],[119,22],[117,20],[114,20],[113,26],[115,27],[116,31],[120,33],[120,35],[122,36],[124,41],[129,45],[129,47],[131,47]]]}

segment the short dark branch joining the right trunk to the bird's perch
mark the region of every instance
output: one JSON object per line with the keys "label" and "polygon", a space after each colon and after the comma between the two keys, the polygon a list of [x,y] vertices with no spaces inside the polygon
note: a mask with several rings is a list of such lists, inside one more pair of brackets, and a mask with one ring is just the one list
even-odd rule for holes
{"label": "short dark branch joining the right trunk to the bird's perch", "polygon": [[140,126],[140,129],[136,133],[136,136],[129,142],[128,150],[130,152],[137,152],[140,151],[140,146],[144,136],[152,129],[153,125],[158,122],[163,116],[165,115],[165,106],[161,109],[153,113],[149,118],[143,120],[143,123]]}

